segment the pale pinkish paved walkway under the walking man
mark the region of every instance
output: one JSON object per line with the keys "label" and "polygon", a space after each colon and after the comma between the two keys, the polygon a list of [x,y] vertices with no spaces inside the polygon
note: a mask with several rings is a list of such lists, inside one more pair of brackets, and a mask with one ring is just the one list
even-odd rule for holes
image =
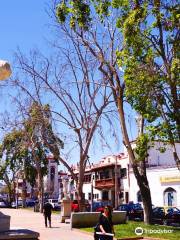
{"label": "pale pinkish paved walkway under the walking man", "polygon": [[52,228],[45,228],[41,213],[24,209],[0,209],[11,216],[11,229],[30,229],[40,233],[40,240],[93,240],[93,237],[71,230],[69,224],[60,223],[59,215],[52,215]]}

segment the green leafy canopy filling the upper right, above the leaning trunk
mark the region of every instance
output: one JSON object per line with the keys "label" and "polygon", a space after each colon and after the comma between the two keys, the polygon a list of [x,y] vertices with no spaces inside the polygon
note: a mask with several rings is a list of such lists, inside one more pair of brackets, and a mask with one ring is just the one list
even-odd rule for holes
{"label": "green leafy canopy filling the upper right, above the leaning trunk", "polygon": [[[122,34],[117,63],[124,69],[127,101],[148,121],[150,138],[170,143],[180,141],[179,2],[65,2],[63,22],[84,26],[86,31],[89,27],[93,31],[91,23],[95,14],[104,26],[116,16],[116,26]],[[83,4],[86,4],[84,12]]]}

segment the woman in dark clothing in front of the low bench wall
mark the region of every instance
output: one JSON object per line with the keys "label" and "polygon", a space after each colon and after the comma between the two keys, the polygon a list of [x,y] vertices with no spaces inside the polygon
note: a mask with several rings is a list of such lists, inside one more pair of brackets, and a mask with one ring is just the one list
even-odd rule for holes
{"label": "woman in dark clothing in front of the low bench wall", "polygon": [[100,240],[113,240],[113,236],[106,236],[103,235],[105,233],[113,233],[114,234],[114,228],[112,223],[112,210],[110,206],[107,206],[104,208],[104,213],[101,214],[99,218],[99,228],[102,232],[102,235],[99,235]]}

